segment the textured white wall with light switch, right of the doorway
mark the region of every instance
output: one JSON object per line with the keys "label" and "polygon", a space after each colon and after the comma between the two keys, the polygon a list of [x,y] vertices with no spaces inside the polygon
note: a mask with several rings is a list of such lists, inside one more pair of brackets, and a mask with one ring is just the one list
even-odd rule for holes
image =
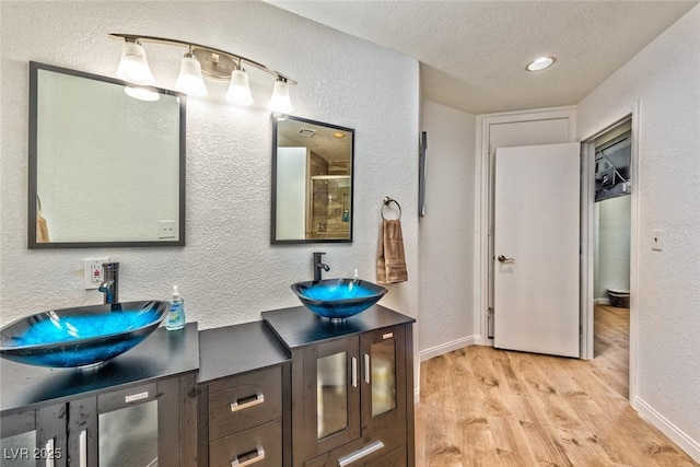
{"label": "textured white wall with light switch, right of the doorway", "polygon": [[[700,460],[700,7],[579,104],[592,135],[639,100],[638,396],[632,404]],[[653,229],[664,250],[651,249]],[[632,291],[633,293],[634,291]],[[632,343],[634,345],[634,342]]]}

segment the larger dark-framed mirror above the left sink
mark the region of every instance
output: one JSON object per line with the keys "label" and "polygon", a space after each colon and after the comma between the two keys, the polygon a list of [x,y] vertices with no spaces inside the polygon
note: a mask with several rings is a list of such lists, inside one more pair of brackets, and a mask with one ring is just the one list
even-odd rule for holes
{"label": "larger dark-framed mirror above the left sink", "polygon": [[185,106],[30,62],[28,247],[185,245]]}

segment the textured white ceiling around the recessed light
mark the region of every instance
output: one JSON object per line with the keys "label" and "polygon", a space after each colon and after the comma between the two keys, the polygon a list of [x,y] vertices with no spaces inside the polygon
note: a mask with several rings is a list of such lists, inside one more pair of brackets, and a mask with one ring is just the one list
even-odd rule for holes
{"label": "textured white ceiling around the recessed light", "polygon": [[[267,0],[417,58],[423,97],[471,114],[571,105],[698,1]],[[534,58],[549,70],[529,73]]]}

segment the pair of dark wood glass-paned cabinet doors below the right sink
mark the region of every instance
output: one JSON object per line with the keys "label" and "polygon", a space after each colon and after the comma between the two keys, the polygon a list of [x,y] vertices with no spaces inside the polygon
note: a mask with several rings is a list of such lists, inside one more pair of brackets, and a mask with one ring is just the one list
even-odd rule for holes
{"label": "pair of dark wood glass-paned cabinet doors below the right sink", "polygon": [[306,458],[404,422],[404,332],[397,326],[305,349]]}

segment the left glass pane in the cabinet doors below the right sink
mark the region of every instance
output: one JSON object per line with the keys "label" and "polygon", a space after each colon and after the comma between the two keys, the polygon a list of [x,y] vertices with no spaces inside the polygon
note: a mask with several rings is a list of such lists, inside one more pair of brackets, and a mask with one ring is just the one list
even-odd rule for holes
{"label": "left glass pane in the cabinet doors below the right sink", "polygon": [[318,440],[348,427],[348,352],[322,357],[316,363]]}

